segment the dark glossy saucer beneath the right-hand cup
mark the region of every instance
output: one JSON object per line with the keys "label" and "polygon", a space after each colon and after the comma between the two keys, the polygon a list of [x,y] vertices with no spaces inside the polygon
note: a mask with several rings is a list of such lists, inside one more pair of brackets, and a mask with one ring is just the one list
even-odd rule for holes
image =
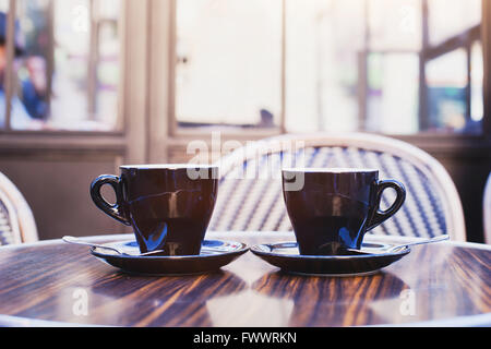
{"label": "dark glossy saucer beneath the right-hand cup", "polygon": [[378,273],[403,258],[411,250],[408,246],[395,252],[387,243],[363,243],[360,251],[344,255],[300,255],[297,242],[259,244],[251,252],[279,267],[283,272],[302,275],[354,276]]}

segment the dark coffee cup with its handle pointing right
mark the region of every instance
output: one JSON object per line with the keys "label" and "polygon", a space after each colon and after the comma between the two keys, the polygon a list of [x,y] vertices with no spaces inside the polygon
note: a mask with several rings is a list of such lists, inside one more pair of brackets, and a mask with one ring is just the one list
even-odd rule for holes
{"label": "dark coffee cup with its handle pointing right", "polygon": [[[406,198],[402,183],[380,181],[379,171],[371,169],[284,169],[283,188],[302,255],[338,255],[361,249],[364,233],[392,217]],[[387,188],[397,196],[391,207],[381,210]]]}

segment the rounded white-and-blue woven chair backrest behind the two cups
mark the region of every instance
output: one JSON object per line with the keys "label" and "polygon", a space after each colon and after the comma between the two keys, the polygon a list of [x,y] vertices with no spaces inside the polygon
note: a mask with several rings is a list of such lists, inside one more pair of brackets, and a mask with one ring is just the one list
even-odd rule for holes
{"label": "rounded white-and-blue woven chair backrest behind the two cups", "polygon": [[[455,184],[443,166],[405,142],[380,135],[287,134],[248,144],[220,160],[218,201],[212,217],[215,231],[292,230],[286,213],[282,167],[376,168],[381,179],[396,179],[406,202],[378,234],[434,237],[448,233],[466,240],[464,213]],[[383,207],[391,204],[384,193]]]}

